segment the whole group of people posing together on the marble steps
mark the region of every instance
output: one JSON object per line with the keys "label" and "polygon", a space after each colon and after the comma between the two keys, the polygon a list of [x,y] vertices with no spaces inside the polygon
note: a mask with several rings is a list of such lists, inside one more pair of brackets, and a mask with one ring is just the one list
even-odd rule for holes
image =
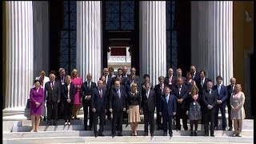
{"label": "whole group of people posing together on the marble steps", "polygon": [[[112,122],[112,136],[116,135],[116,131],[118,136],[122,136],[124,118],[130,123],[130,135],[136,136],[141,114],[144,115],[144,135],[149,134],[150,125],[150,136],[154,136],[155,111],[158,130],[163,130],[164,136],[167,130],[170,136],[173,135],[173,119],[176,130],[181,130],[181,119],[184,130],[188,130],[189,119],[191,136],[198,135],[198,123],[204,125],[205,135],[209,136],[210,123],[210,136],[214,136],[214,130],[218,130],[219,110],[222,114],[222,130],[233,130],[234,123],[234,136],[241,136],[245,95],[235,78],[230,78],[229,86],[223,86],[222,77],[218,76],[214,85],[210,78],[206,78],[206,72],[201,70],[198,73],[195,66],[190,66],[186,78],[182,76],[181,69],[176,70],[174,75],[174,70],[170,68],[166,77],[158,78],[156,86],[151,86],[149,74],[145,74],[141,82],[135,68],[132,67],[130,74],[127,74],[126,66],[118,69],[117,75],[114,75],[113,68],[104,68],[97,84],[92,82],[91,74],[87,74],[86,82],[82,82],[75,69],[66,75],[61,68],[59,75],[56,79],[52,71],[48,78],[42,71],[34,81],[34,87],[30,90],[31,131],[38,131],[41,115],[46,115],[47,125],[52,125],[52,121],[55,126],[58,125],[59,106],[63,104],[64,125],[71,125],[71,120],[78,118],[78,110],[82,106],[84,129],[94,130],[95,137],[103,136],[106,118]],[[43,111],[45,102],[47,110]],[[226,106],[229,113],[228,127]]]}

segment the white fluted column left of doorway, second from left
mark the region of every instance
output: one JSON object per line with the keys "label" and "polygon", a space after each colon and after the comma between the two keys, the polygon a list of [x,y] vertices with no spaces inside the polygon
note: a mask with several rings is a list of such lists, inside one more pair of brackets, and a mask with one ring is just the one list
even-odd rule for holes
{"label": "white fluted column left of doorway, second from left", "polygon": [[83,81],[102,74],[102,17],[100,1],[77,2],[77,69]]}

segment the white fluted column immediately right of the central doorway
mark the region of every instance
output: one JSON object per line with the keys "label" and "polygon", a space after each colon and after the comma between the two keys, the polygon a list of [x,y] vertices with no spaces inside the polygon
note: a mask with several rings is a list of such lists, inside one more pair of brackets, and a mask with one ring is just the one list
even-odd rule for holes
{"label": "white fluted column immediately right of the central doorway", "polygon": [[152,86],[166,76],[166,1],[141,1],[140,75],[150,74]]}

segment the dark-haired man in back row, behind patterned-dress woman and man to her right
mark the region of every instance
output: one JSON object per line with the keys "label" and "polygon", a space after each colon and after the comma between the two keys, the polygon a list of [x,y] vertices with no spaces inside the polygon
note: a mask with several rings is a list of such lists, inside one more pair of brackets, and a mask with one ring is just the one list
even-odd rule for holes
{"label": "dark-haired man in back row, behind patterned-dress woman and man to her right", "polygon": [[[207,90],[207,83],[211,82],[210,78],[206,78],[206,71],[201,70],[199,72],[200,78],[195,82],[196,85],[198,86],[198,97],[199,97],[199,104],[202,107],[204,105],[204,102],[202,101],[203,97],[203,92]],[[201,124],[204,124],[204,110],[202,110],[202,119],[201,119]]]}

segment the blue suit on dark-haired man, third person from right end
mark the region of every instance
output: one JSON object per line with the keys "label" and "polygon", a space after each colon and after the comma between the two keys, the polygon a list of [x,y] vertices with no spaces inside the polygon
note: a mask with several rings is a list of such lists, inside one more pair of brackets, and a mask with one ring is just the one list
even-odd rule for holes
{"label": "blue suit on dark-haired man, third person from right end", "polygon": [[221,104],[216,104],[215,107],[215,114],[214,114],[214,127],[218,127],[218,110],[221,110],[222,113],[222,129],[225,130],[226,128],[226,101],[228,98],[228,92],[226,86],[221,86],[221,89],[218,93],[218,86],[214,86],[214,90],[217,92],[217,100],[221,100]]}

